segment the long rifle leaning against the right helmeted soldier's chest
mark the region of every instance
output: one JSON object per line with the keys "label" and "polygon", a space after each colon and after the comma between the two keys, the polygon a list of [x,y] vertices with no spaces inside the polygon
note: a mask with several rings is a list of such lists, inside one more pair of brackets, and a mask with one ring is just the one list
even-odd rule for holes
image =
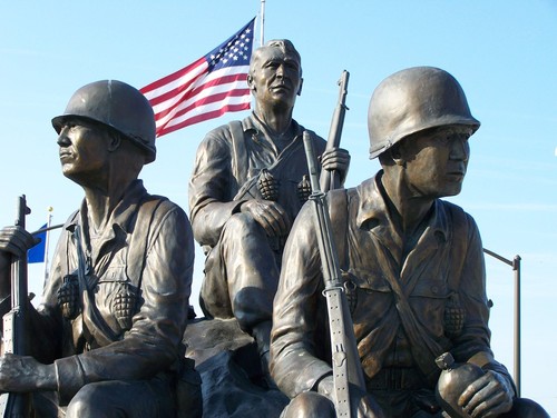
{"label": "long rifle leaning against the right helmeted soldier's chest", "polygon": [[326,196],[320,190],[313,143],[309,132],[303,135],[312,193],[310,201],[315,209],[315,231],[323,269],[324,290],[331,331],[331,351],[334,379],[335,410],[338,417],[351,417],[349,384],[365,390],[363,371],[354,336],[346,295],[342,286],[339,256],[333,240]]}

